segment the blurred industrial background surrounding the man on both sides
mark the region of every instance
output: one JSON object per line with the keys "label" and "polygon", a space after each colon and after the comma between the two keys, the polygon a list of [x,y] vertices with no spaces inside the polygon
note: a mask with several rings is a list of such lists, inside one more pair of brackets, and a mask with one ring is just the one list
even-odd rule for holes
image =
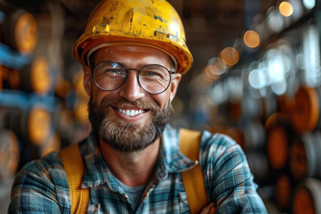
{"label": "blurred industrial background surrounding the man on both sides", "polygon": [[[72,46],[98,0],[0,0],[0,213],[26,162],[90,132]],[[230,135],[269,213],[321,213],[318,0],[171,0],[194,56],[174,127]]]}

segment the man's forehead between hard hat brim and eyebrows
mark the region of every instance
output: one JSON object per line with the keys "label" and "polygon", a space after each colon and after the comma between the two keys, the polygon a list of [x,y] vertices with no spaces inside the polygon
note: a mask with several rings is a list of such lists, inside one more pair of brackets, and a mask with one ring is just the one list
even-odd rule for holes
{"label": "man's forehead between hard hat brim and eyebrows", "polygon": [[103,61],[114,61],[125,66],[142,66],[159,64],[165,67],[171,65],[171,59],[165,52],[143,46],[110,46],[96,50],[93,53],[94,65]]}

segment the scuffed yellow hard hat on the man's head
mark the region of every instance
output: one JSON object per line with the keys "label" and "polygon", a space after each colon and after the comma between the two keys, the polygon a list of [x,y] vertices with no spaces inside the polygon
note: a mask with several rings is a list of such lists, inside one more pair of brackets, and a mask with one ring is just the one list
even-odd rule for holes
{"label": "scuffed yellow hard hat on the man's head", "polygon": [[92,11],[85,32],[74,45],[79,62],[101,47],[135,45],[166,52],[185,73],[193,63],[182,21],[165,0],[103,0]]}

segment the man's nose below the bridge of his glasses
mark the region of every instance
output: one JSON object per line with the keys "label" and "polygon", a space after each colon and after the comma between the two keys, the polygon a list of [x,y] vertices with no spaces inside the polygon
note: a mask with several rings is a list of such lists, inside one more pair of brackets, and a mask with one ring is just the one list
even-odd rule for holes
{"label": "man's nose below the bridge of his glasses", "polygon": [[145,91],[138,84],[137,72],[136,70],[130,70],[130,72],[127,70],[127,79],[118,92],[119,96],[122,96],[130,102],[144,98],[145,96]]}

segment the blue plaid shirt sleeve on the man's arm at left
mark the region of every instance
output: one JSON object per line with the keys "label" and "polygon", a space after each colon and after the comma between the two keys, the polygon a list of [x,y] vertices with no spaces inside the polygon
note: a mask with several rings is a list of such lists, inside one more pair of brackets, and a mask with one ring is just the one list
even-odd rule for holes
{"label": "blue plaid shirt sleeve on the man's arm at left", "polygon": [[[54,161],[51,160],[51,162]],[[62,164],[60,166],[63,167]],[[56,191],[61,187],[53,184],[52,172],[50,172],[51,168],[59,177],[61,167],[56,163],[50,165],[43,159],[27,163],[14,180],[8,213],[68,213],[62,212],[59,207]]]}

